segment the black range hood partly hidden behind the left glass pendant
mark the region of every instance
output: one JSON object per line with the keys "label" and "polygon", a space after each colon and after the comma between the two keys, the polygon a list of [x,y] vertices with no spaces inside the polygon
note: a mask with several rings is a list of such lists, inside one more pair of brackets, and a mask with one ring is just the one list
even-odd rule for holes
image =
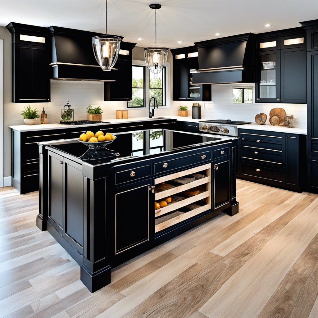
{"label": "black range hood partly hidden behind the left glass pendant", "polygon": [[57,26],[49,30],[51,80],[114,82],[112,71],[104,72],[93,53],[92,37],[102,34]]}

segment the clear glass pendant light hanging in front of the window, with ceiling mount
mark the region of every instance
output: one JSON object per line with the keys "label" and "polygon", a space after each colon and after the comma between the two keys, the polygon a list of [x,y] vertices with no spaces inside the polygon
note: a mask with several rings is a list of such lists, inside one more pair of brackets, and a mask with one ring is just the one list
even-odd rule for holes
{"label": "clear glass pendant light hanging in front of the window, with ceiling mount", "polygon": [[149,7],[156,10],[156,47],[146,47],[144,49],[145,62],[152,73],[158,74],[167,61],[169,49],[167,47],[157,47],[157,9],[161,8],[161,4],[150,4]]}

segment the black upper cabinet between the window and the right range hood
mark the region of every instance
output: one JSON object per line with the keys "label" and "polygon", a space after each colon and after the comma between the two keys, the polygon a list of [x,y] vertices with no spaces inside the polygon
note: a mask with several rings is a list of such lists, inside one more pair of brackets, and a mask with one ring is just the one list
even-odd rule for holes
{"label": "black upper cabinet between the window and the right range hood", "polygon": [[211,101],[211,85],[192,85],[190,70],[198,69],[194,46],[171,50],[173,55],[173,100]]}

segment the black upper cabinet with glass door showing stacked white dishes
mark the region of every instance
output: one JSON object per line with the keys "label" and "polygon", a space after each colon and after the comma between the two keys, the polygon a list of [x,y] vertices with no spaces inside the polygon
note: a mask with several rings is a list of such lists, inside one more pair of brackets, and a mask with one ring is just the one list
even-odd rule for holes
{"label": "black upper cabinet with glass door showing stacked white dishes", "polygon": [[263,33],[257,48],[256,102],[306,103],[306,34]]}

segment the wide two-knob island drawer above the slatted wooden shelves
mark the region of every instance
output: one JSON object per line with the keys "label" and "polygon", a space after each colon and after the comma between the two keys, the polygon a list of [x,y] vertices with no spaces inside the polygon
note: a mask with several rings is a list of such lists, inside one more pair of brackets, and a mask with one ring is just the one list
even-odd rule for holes
{"label": "wide two-knob island drawer above the slatted wooden shelves", "polygon": [[[162,158],[160,158],[162,160]],[[211,151],[200,152],[198,154],[176,158],[176,156],[167,156],[165,161],[155,162],[154,174],[168,172],[170,170],[190,166],[196,163],[207,162],[212,159]],[[154,162],[154,160],[153,160]]]}

